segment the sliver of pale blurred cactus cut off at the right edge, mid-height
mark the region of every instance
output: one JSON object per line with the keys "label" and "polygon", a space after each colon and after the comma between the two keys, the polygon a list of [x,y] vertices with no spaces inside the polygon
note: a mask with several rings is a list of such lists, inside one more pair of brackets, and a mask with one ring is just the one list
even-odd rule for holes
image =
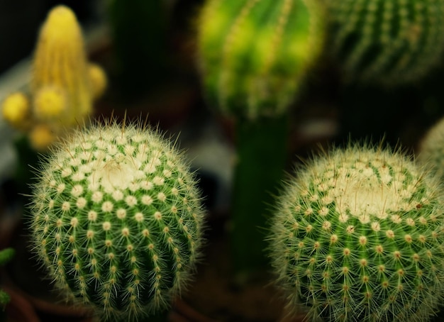
{"label": "sliver of pale blurred cactus cut off at the right edge, mid-height", "polygon": [[418,161],[444,182],[444,118],[428,130],[418,148]]}

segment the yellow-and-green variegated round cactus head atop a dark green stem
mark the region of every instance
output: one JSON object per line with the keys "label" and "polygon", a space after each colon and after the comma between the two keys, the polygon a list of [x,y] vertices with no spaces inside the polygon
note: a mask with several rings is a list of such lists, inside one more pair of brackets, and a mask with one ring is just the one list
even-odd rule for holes
{"label": "yellow-and-green variegated round cactus head atop a dark green stem", "polygon": [[323,43],[316,1],[209,0],[198,28],[209,101],[249,119],[287,110]]}

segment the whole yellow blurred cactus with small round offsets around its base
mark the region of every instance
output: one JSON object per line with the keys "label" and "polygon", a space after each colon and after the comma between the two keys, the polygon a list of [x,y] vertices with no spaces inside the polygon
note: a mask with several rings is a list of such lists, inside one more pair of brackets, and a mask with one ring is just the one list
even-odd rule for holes
{"label": "whole yellow blurred cactus with small round offsets around its base", "polygon": [[[93,100],[105,87],[103,70],[87,62],[82,31],[74,13],[66,6],[56,6],[43,24],[35,48],[31,99],[25,94],[11,94],[3,103],[3,116],[21,131],[39,133],[35,127],[46,128],[56,139],[68,128],[88,121]],[[40,135],[29,135],[29,139],[38,150],[48,148]]]}

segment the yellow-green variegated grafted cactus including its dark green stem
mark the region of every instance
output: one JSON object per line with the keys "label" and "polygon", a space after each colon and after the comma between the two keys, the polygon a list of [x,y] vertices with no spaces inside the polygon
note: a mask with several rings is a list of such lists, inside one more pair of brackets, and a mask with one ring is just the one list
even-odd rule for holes
{"label": "yellow-green variegated grafted cactus including its dark green stem", "polygon": [[289,110],[323,44],[311,0],[209,0],[198,52],[209,104],[235,121],[233,261],[239,276],[261,270],[267,204],[287,163]]}

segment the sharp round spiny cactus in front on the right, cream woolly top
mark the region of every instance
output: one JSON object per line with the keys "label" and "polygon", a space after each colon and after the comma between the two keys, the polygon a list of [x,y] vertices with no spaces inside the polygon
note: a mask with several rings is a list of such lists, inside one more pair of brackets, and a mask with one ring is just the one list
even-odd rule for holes
{"label": "sharp round spiny cactus in front on the right, cream woolly top", "polygon": [[317,157],[274,213],[274,268],[310,321],[427,321],[442,303],[442,195],[401,152],[355,145]]}

